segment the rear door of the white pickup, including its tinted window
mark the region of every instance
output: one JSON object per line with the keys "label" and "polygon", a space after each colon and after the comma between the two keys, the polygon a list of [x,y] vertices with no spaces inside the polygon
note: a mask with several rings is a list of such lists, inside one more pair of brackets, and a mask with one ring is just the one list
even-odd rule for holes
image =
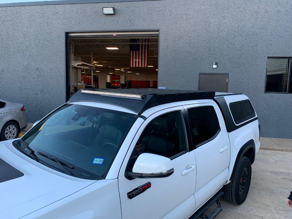
{"label": "rear door of the white pickup, including its tinted window", "polygon": [[227,182],[230,143],[219,107],[215,103],[185,106],[197,160],[196,210]]}

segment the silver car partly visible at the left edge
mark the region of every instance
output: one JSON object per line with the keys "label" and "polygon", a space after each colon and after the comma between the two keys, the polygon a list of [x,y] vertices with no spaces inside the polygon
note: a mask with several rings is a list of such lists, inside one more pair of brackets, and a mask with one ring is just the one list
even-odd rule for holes
{"label": "silver car partly visible at the left edge", "polygon": [[26,127],[27,115],[23,104],[0,99],[0,140],[17,138]]}

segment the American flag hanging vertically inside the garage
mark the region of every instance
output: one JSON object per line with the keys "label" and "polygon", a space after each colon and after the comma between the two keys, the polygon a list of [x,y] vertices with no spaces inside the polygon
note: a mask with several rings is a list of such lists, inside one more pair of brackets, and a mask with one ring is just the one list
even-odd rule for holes
{"label": "American flag hanging vertically inside the garage", "polygon": [[[140,43],[141,42],[141,43]],[[130,39],[130,67],[148,67],[149,39]]]}

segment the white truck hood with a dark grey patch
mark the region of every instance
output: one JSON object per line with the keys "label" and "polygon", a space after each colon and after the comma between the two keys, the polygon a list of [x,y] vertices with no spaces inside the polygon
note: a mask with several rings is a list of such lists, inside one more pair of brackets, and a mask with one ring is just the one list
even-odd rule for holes
{"label": "white truck hood with a dark grey patch", "polygon": [[1,218],[21,218],[96,182],[39,164],[19,152],[14,140],[0,142]]}

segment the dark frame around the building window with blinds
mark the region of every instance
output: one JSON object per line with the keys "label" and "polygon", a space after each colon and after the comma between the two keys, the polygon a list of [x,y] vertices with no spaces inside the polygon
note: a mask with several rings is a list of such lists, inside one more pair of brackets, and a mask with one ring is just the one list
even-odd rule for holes
{"label": "dark frame around the building window with blinds", "polygon": [[[288,59],[288,71],[287,71],[287,85],[286,91],[267,91],[268,85],[268,68],[269,68],[269,59]],[[266,76],[265,76],[265,93],[292,93],[292,57],[267,57],[267,67],[266,67]],[[283,79],[282,79],[283,83]]]}

